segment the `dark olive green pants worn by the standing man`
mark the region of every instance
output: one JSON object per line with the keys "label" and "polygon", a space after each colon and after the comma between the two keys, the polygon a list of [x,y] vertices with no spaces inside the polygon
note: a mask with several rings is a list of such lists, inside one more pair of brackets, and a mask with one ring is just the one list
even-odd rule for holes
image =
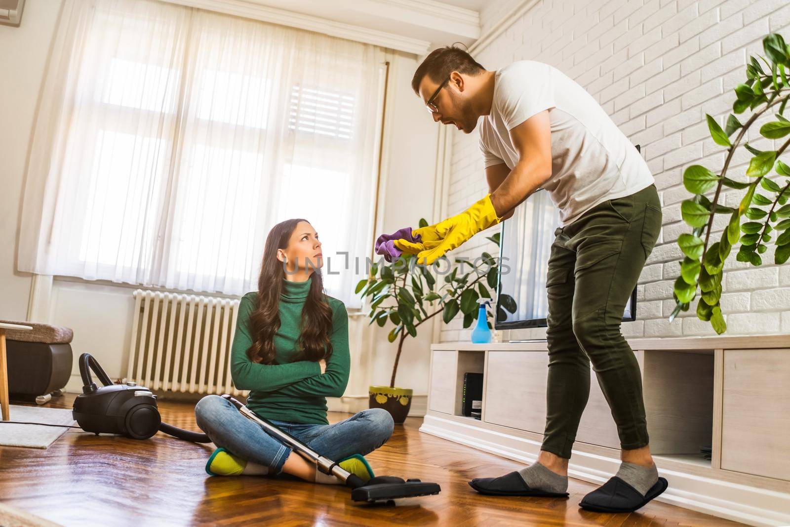
{"label": "dark olive green pants worn by the standing man", "polygon": [[548,382],[541,450],[570,458],[589,398],[590,362],[623,450],[648,444],[639,364],[623,311],[661,229],[656,186],[604,201],[555,232],[548,262]]}

